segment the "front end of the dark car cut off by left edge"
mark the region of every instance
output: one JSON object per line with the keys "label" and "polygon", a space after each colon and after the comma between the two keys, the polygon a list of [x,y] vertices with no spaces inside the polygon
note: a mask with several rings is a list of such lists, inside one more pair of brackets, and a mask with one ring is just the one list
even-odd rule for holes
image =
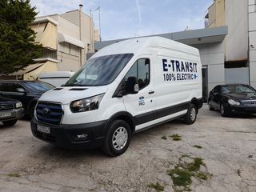
{"label": "front end of the dark car cut off by left edge", "polygon": [[22,102],[10,98],[0,98],[0,122],[4,126],[14,126],[18,118],[23,116]]}

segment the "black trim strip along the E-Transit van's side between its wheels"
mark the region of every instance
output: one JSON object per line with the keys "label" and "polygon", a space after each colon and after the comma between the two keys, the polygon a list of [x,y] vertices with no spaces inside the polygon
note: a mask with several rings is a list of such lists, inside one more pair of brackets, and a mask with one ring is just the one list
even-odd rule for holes
{"label": "black trim strip along the E-Transit van's side between its wheels", "polygon": [[167,115],[170,115],[170,114],[178,113],[182,110],[187,110],[189,106],[190,106],[190,102],[184,102],[175,106],[168,106],[160,110],[150,111],[145,114],[138,114],[134,117],[135,126],[153,121],[158,118],[166,117]]}

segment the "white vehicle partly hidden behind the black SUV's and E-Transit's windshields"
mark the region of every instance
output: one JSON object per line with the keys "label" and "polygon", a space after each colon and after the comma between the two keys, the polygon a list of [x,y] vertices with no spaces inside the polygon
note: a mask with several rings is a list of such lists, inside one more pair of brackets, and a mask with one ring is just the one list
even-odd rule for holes
{"label": "white vehicle partly hidden behind the black SUV's and E-Transit's windshields", "polygon": [[53,71],[39,74],[38,81],[47,82],[53,86],[62,86],[74,74],[72,71]]}

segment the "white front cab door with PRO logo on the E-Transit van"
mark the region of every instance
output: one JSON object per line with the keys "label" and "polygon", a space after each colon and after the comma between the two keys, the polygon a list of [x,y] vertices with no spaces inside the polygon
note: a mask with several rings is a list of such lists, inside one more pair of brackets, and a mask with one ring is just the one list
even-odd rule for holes
{"label": "white front cab door with PRO logo on the E-Transit van", "polygon": [[134,116],[135,130],[149,126],[147,122],[154,120],[154,84],[152,81],[153,67],[149,58],[139,58],[124,77],[136,77],[139,86],[138,94],[123,96],[126,110]]}

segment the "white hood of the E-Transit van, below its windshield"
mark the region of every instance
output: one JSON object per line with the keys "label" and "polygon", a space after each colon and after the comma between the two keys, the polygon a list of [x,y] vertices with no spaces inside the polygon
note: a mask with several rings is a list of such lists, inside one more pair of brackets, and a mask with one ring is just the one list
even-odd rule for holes
{"label": "white hood of the E-Transit van, below its windshield", "polygon": [[61,86],[42,94],[39,101],[69,104],[78,99],[106,93],[108,86]]}

